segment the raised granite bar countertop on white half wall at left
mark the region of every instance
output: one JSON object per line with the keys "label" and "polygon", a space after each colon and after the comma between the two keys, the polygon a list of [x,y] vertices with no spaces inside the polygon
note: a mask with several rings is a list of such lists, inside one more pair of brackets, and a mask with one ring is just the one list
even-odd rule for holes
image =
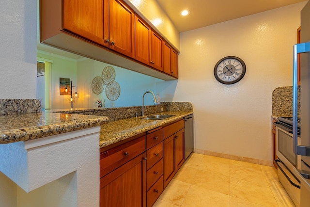
{"label": "raised granite bar countertop on white half wall at left", "polygon": [[55,134],[103,125],[106,116],[72,113],[21,113],[0,115],[0,144],[33,140]]}

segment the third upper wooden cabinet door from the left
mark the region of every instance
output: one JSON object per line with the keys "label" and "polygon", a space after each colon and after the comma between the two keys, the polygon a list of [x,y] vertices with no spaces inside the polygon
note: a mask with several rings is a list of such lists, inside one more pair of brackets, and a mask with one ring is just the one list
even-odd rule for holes
{"label": "third upper wooden cabinet door from the left", "polygon": [[151,27],[139,16],[135,19],[135,59],[141,63],[152,65],[151,61]]}

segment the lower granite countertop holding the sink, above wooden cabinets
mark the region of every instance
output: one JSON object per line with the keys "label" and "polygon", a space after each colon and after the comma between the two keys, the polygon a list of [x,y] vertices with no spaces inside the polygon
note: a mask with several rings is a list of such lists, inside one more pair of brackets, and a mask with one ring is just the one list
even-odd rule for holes
{"label": "lower granite countertop holding the sink, above wooden cabinets", "polygon": [[162,120],[146,120],[138,116],[118,121],[109,121],[104,126],[101,126],[99,146],[100,148],[109,146],[142,132],[171,123],[192,113],[193,111],[165,111],[156,114],[174,116]]}

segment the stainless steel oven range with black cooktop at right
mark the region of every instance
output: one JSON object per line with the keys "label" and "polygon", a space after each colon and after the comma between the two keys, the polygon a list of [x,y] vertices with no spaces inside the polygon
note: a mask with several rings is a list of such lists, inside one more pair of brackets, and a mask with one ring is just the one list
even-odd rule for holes
{"label": "stainless steel oven range with black cooktop at right", "polygon": [[[293,151],[293,123],[291,117],[279,117],[277,127],[278,178],[296,207],[300,206],[300,180],[294,169],[300,169],[301,157]],[[299,128],[300,134],[300,128]],[[298,137],[300,143],[300,137]]]}

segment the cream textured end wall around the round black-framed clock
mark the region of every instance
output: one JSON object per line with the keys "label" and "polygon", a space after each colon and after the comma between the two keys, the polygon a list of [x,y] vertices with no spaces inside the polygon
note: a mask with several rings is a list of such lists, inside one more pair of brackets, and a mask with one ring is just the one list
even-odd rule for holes
{"label": "cream textured end wall around the round black-framed clock", "polygon": [[[164,101],[190,101],[195,148],[272,160],[271,93],[292,85],[292,48],[305,2],[181,33],[179,80],[157,82]],[[213,74],[217,61],[240,57],[238,83]]]}

